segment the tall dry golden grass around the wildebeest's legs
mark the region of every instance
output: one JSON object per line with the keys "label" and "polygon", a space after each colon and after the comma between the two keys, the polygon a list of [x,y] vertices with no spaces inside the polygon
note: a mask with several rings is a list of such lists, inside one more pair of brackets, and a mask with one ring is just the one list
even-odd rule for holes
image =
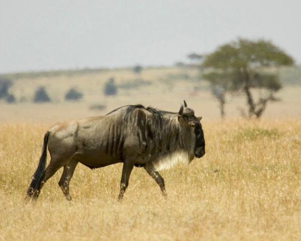
{"label": "tall dry golden grass around the wildebeest's legs", "polygon": [[46,123],[0,124],[0,240],[298,240],[301,119],[203,122],[206,155],[161,171],[168,197],[135,168],[118,203],[121,164],[78,165],[73,202],[61,170],[26,203]]}

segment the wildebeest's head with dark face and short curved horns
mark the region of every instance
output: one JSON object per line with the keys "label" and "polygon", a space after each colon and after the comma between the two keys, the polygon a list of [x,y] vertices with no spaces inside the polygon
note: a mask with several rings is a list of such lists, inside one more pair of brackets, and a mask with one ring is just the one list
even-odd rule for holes
{"label": "wildebeest's head with dark face and short curved horns", "polygon": [[194,110],[187,107],[186,101],[184,105],[181,103],[179,110],[178,121],[181,125],[190,126],[194,128],[195,134],[195,145],[194,145],[194,156],[197,158],[205,155],[205,139],[202,125],[200,123],[202,117],[196,117]]}

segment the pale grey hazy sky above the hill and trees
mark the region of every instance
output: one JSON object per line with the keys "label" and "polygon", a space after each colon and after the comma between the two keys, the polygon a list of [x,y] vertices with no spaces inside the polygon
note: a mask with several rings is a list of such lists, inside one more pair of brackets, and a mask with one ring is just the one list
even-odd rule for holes
{"label": "pale grey hazy sky above the hill and trees", "polygon": [[301,0],[0,0],[0,73],[173,65],[237,37],[301,64]]}

